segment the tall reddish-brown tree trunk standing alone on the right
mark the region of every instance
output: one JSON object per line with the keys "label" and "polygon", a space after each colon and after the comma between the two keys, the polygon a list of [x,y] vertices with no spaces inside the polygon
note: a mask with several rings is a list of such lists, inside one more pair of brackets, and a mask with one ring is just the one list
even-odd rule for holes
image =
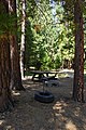
{"label": "tall reddish-brown tree trunk standing alone on the right", "polygon": [[83,30],[83,0],[74,3],[75,23],[75,58],[73,99],[84,102],[84,30]]}

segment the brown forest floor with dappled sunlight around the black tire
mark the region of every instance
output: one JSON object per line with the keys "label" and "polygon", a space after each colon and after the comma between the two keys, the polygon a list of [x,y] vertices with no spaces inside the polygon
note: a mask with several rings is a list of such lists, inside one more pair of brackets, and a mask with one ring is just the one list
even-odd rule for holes
{"label": "brown forest floor with dappled sunlight around the black tire", "polygon": [[[45,87],[55,96],[47,104],[34,100],[42,82],[26,77],[26,91],[13,93],[17,101],[13,110],[0,114],[0,130],[86,130],[86,103],[72,101],[73,72],[66,70],[64,75],[58,77],[59,87]],[[86,101],[86,83],[84,94]]]}

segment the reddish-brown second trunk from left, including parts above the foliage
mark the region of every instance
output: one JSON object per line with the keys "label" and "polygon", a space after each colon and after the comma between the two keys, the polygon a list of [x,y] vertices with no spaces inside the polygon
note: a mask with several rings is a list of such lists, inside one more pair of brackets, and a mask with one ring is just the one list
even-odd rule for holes
{"label": "reddish-brown second trunk from left, including parts above the foliage", "polygon": [[[10,15],[16,16],[16,0],[9,0]],[[15,32],[10,34],[10,47],[11,47],[11,88],[16,90],[25,90],[22,82],[20,66],[19,66],[19,53],[17,43],[17,22],[14,22]]]}

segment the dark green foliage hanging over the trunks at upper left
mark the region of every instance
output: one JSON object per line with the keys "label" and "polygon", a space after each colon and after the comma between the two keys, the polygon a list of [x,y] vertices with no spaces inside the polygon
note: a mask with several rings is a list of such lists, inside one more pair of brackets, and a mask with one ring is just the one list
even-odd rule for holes
{"label": "dark green foliage hanging over the trunks at upper left", "polygon": [[[5,6],[4,6],[5,5]],[[14,14],[10,15],[8,4],[0,3],[0,35],[5,32],[15,32],[15,21]]]}

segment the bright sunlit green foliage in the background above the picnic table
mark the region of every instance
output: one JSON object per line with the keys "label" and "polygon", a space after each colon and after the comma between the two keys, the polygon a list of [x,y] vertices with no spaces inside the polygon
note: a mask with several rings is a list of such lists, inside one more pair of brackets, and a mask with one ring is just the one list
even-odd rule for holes
{"label": "bright sunlit green foliage in the background above the picnic table", "polygon": [[39,69],[57,69],[64,60],[72,61],[74,56],[72,15],[69,13],[69,18],[60,2],[54,6],[55,15],[48,2],[34,4],[30,1],[27,8],[26,66],[38,68],[40,65]]}

